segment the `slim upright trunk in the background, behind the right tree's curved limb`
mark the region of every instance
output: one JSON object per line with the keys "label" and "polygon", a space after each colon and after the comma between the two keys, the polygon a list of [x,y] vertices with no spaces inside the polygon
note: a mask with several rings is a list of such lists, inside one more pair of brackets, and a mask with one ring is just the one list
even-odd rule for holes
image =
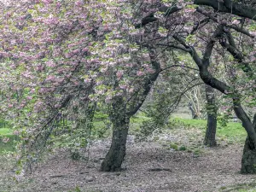
{"label": "slim upright trunk in the background, behind the right tree's curved limb", "polygon": [[217,128],[217,106],[215,103],[214,89],[206,84],[207,97],[207,131],[204,144],[209,147],[217,145],[215,135]]}

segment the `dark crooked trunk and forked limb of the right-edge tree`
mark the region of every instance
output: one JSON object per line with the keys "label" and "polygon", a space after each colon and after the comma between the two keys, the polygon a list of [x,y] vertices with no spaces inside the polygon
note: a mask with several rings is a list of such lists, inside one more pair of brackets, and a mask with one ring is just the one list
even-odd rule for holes
{"label": "dark crooked trunk and forked limb of the right-edge tree", "polygon": [[[195,0],[197,4],[202,4],[199,2],[207,2],[211,3],[212,1],[209,0]],[[217,2],[217,1],[214,1]],[[225,1],[229,2],[229,1]],[[234,9],[233,9],[234,10]],[[256,11],[256,10],[255,10]],[[256,13],[256,12],[255,12]],[[237,15],[236,12],[233,14]],[[255,15],[255,14],[254,14]],[[250,17],[248,17],[250,18]],[[254,18],[255,19],[255,18]],[[216,43],[216,39],[221,37],[222,33],[224,32],[223,26],[218,26],[217,30],[214,32],[211,40],[207,44],[207,48],[205,53],[203,54],[203,58],[197,54],[195,48],[193,46],[189,46],[186,44],[184,38],[178,35],[173,35],[173,38],[177,40],[180,44],[183,45],[184,51],[188,52],[193,60],[195,61],[196,65],[199,67],[200,70],[200,77],[204,81],[205,84],[209,84],[212,88],[215,88],[222,92],[227,96],[231,96],[234,105],[234,111],[238,119],[241,120],[242,126],[247,131],[247,141],[245,143],[243,156],[241,160],[241,173],[254,173],[256,174],[256,116],[254,116],[253,123],[251,119],[248,117],[247,113],[241,107],[241,96],[238,94],[237,90],[231,89],[228,84],[225,84],[223,81],[218,80],[212,76],[212,73],[209,72],[208,67],[210,65],[210,57],[212,55],[212,49],[214,44]],[[175,47],[177,48],[177,47]],[[187,49],[187,50],[186,50]],[[231,51],[231,50],[230,50]],[[247,71],[245,71],[247,73]],[[250,73],[247,75],[249,76]]]}

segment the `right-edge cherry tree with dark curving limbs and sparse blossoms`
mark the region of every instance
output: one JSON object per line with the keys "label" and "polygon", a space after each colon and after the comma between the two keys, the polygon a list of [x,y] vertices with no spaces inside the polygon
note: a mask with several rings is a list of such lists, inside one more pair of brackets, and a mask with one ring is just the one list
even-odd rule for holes
{"label": "right-edge cherry tree with dark curving limbs and sparse blossoms", "polygon": [[[248,136],[241,161],[242,173],[256,172],[253,166],[256,115],[250,119],[242,107],[247,105],[243,102],[245,98],[250,98],[249,103],[255,105],[253,20],[256,9],[253,5],[230,0],[167,1],[167,8],[159,7],[143,17],[138,25],[148,27],[157,22],[163,37],[158,44],[189,53],[200,70],[201,79],[230,98]],[[245,44],[246,41],[251,44]],[[212,73],[212,56],[223,59],[226,79],[218,79]]]}

